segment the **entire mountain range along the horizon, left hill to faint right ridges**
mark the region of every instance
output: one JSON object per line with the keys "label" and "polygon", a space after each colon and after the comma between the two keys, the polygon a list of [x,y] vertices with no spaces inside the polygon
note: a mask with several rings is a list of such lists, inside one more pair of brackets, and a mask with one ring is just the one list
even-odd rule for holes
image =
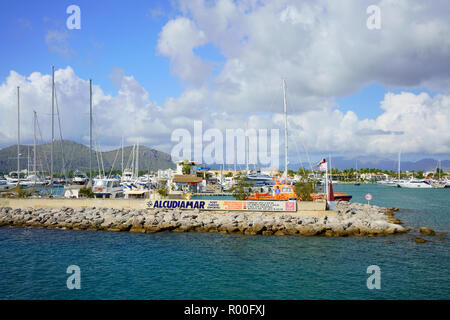
{"label": "entire mountain range along the horizon, left hill to faint right ridges", "polygon": [[[64,163],[66,171],[70,170],[89,170],[89,147],[79,144],[70,140],[56,141],[53,146],[53,158],[54,158],[54,172],[62,172],[62,152],[64,150]],[[37,155],[37,170],[49,171],[50,164],[50,143],[40,144],[36,147]],[[124,167],[131,167],[132,161],[132,146],[124,147]],[[33,146],[21,145],[20,146],[21,161],[20,168],[26,169],[28,166],[30,170],[33,169]],[[28,156],[29,155],[29,156]],[[92,155],[92,169],[98,171],[98,161],[103,159],[103,165],[105,171],[109,171],[112,166],[114,169],[121,169],[122,166],[122,154],[121,149],[116,149],[107,152],[93,152]],[[283,162],[280,161],[280,164]],[[313,169],[316,169],[316,163],[302,163],[303,167],[309,169],[312,165]],[[333,157],[333,168],[339,170],[356,168],[377,168],[381,170],[393,170],[397,171],[398,162],[391,159],[383,159],[369,156],[361,157]],[[212,169],[220,169],[221,165],[206,165]],[[298,170],[301,165],[299,163],[290,163],[289,169]],[[435,159],[421,159],[419,161],[401,161],[402,171],[435,171],[438,166],[438,161]],[[253,165],[249,165],[250,169],[254,169]],[[139,146],[139,169],[156,171],[158,169],[175,168],[175,163],[172,161],[171,156],[167,153],[140,145]],[[230,169],[230,166],[226,166],[226,169]],[[243,170],[243,166],[238,166],[238,169]],[[442,160],[441,168],[444,171],[450,171],[450,160]],[[17,169],[17,145],[12,145],[3,149],[0,149],[0,172],[8,173]],[[232,169],[232,168],[231,168]],[[280,167],[280,170],[283,170]]]}

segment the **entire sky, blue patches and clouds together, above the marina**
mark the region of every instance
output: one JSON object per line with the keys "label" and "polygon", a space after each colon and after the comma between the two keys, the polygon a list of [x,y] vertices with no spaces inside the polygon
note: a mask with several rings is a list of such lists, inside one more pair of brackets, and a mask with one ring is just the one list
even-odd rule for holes
{"label": "entire sky, blue patches and clouds together, above the marina", "polygon": [[284,79],[290,162],[448,159],[449,16],[444,0],[1,1],[0,147],[17,142],[17,86],[22,143],[33,110],[50,141],[54,65],[63,137],[89,144],[92,79],[102,149],[123,136],[170,153],[196,120],[282,136]]}

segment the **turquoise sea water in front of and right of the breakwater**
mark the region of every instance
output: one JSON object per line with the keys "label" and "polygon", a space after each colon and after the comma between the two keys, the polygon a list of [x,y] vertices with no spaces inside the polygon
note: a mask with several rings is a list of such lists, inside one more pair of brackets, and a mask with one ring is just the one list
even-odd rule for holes
{"label": "turquoise sea water in front of and right of the breakwater", "polygon": [[[337,185],[399,207],[409,234],[377,238],[134,234],[0,228],[1,299],[449,299],[450,190]],[[69,265],[81,289],[68,290]],[[381,268],[381,289],[366,286]]]}

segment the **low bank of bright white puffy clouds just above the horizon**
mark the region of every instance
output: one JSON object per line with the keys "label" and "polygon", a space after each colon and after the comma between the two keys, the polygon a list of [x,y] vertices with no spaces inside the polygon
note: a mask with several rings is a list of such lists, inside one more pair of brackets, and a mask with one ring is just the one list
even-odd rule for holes
{"label": "low bank of bright white puffy clouds just above the horizon", "polygon": [[[89,81],[78,77],[70,67],[56,70],[55,79],[63,136],[87,144]],[[17,86],[21,90],[23,143],[32,143],[33,110],[38,113],[44,139],[49,141],[50,75],[35,72],[27,77],[11,71],[0,85],[0,126],[4,128],[0,145],[17,141]],[[95,132],[104,148],[118,146],[123,135],[128,143],[139,139],[141,143],[170,152],[172,131],[186,128],[192,132],[193,121],[198,119],[203,121],[204,131],[218,128],[224,135],[228,128],[245,128],[246,125],[256,129],[279,128],[282,154],[282,113],[253,113],[246,118],[238,113],[201,109],[208,105],[207,97],[205,88],[192,89],[158,106],[133,77],[124,75],[115,96],[106,95],[94,85]],[[281,106],[281,97],[275,103]],[[450,95],[387,94],[380,106],[383,113],[375,119],[359,119],[352,111],[342,112],[327,105],[301,114],[289,112],[291,159],[297,158],[299,150],[303,151],[303,144],[309,152],[383,155],[401,150],[403,153],[450,153]]]}

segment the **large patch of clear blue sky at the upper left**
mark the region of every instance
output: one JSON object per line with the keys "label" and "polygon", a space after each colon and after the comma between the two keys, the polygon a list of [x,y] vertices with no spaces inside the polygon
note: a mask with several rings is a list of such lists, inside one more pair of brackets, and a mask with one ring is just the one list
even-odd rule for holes
{"label": "large patch of clear blue sky at the upper left", "polygon": [[[92,78],[106,93],[115,94],[117,88],[109,75],[118,67],[134,76],[159,103],[180,94],[169,60],[156,53],[158,34],[172,11],[167,1],[76,1],[81,8],[81,30],[66,28],[66,8],[71,4],[51,0],[0,3],[0,35],[7,44],[7,50],[0,53],[2,80],[10,70],[48,74],[51,65],[56,69],[70,65],[79,77]],[[68,55],[49,49],[45,37],[50,30],[66,32]]]}

